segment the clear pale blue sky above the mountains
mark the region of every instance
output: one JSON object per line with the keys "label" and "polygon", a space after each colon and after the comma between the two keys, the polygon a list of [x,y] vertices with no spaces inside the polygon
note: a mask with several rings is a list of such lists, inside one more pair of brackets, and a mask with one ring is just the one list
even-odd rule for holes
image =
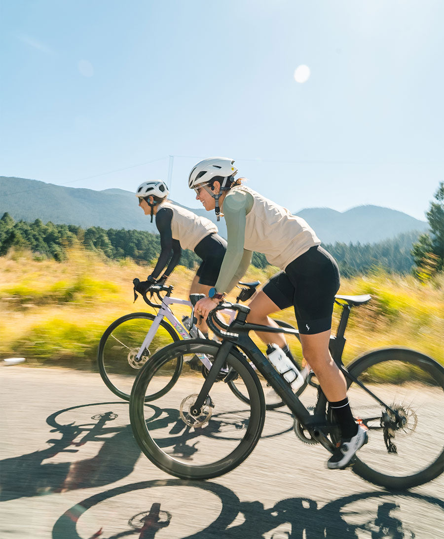
{"label": "clear pale blue sky above the mountains", "polygon": [[1,175],[133,191],[173,155],[197,207],[188,173],[221,155],[292,211],[419,219],[444,179],[441,0],[0,6]]}

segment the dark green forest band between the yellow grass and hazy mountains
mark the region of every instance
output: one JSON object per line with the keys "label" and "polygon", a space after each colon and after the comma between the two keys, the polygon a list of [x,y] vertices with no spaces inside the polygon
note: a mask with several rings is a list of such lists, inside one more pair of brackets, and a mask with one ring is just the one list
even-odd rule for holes
{"label": "dark green forest band between the yellow grass and hazy mountains", "polygon": [[[410,254],[418,233],[400,234],[397,238],[372,245],[344,244],[324,245],[338,262],[344,277],[366,274],[374,267],[389,272],[411,272],[413,259]],[[110,259],[131,258],[136,262],[151,262],[160,252],[158,234],[140,230],[105,230],[99,226],[82,229],[77,225],[43,224],[40,219],[33,223],[16,222],[8,213],[0,219],[0,256],[11,247],[29,249],[34,258],[66,259],[66,248],[83,245],[91,251],[99,251]],[[184,250],[181,265],[192,268],[199,261],[193,251]],[[268,262],[263,254],[254,253],[252,264],[265,268]]]}

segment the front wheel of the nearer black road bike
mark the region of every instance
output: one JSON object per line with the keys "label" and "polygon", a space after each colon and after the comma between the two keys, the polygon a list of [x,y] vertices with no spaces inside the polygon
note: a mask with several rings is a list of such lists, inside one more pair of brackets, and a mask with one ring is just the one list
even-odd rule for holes
{"label": "front wheel of the nearer black road bike", "polygon": [[[219,348],[219,343],[203,339],[170,344],[140,371],[131,392],[129,413],[138,445],[158,468],[181,479],[210,479],[230,472],[253,451],[262,432],[265,402],[261,385],[251,365],[234,349],[226,366],[245,384],[248,403],[227,388],[224,371],[202,408],[192,412],[204,378],[192,370],[189,361],[206,356],[213,362]],[[175,385],[147,403],[147,395],[164,386],[178,358],[184,361]]]}

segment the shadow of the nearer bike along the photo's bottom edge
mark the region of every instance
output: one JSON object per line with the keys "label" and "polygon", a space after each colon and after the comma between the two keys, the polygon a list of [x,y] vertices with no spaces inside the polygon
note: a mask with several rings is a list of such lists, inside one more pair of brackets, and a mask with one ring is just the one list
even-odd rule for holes
{"label": "shadow of the nearer bike along the photo's bottom edge", "polygon": [[[183,487],[189,488],[189,494],[184,496],[182,492],[181,499],[177,499]],[[115,515],[110,513],[115,504],[114,498],[125,495],[132,495],[131,503],[119,503],[121,514],[116,521]],[[215,496],[219,499],[216,505],[211,504]],[[203,503],[199,504],[201,499]],[[137,500],[136,506],[134,500]],[[176,509],[173,507],[175,504]],[[207,514],[209,524],[191,530],[193,526],[196,528],[199,515],[207,506],[218,508]],[[179,507],[182,514],[179,514]],[[417,522],[417,517],[411,516],[411,507],[426,515],[424,522]],[[316,500],[294,497],[266,508],[260,501],[241,502],[232,490],[218,483],[154,480],[116,487],[81,501],[58,519],[52,539],[115,539],[126,536],[139,539],[156,536],[171,539],[434,537],[442,508],[443,502],[438,498],[409,492],[354,494],[322,507]],[[77,523],[86,512],[93,513],[94,518],[89,514],[87,522],[94,522],[96,528],[90,526],[88,529],[82,521],[80,528],[84,531],[80,535]],[[168,529],[161,532],[163,528]],[[431,534],[425,535],[424,529]],[[116,533],[116,530],[119,531]]]}

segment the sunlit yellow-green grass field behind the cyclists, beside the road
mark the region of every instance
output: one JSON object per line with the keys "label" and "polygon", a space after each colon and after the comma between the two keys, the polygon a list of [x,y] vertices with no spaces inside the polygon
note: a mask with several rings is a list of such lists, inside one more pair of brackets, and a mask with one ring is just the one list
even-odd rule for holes
{"label": "sunlit yellow-green grass field behind the cyclists, beside the road", "polygon": [[[264,283],[274,271],[251,266],[245,280]],[[148,266],[109,261],[81,249],[70,251],[63,263],[35,261],[26,252],[1,257],[0,356],[23,355],[30,364],[94,368],[100,336],[113,320],[130,312],[154,312],[142,298],[133,303],[133,278],[144,280],[148,274]],[[192,277],[189,269],[176,268],[170,278],[173,295],[185,298]],[[369,349],[395,345],[422,351],[444,364],[443,291],[442,276],[427,285],[384,273],[343,279],[339,293],[373,297],[366,306],[352,309],[344,362]],[[189,312],[173,310],[178,317]],[[338,315],[336,308],[334,329]],[[295,324],[293,309],[276,317]],[[300,356],[296,339],[289,342]]]}

